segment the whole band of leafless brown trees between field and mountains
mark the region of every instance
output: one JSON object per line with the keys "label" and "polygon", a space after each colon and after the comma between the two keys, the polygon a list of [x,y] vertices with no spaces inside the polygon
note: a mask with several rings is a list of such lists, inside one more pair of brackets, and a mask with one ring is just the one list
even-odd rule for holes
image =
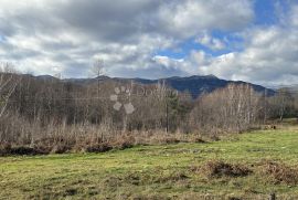
{"label": "whole band of leafless brown trees between field and mountains", "polygon": [[[295,93],[280,90],[268,96],[248,84],[231,84],[192,99],[190,94],[170,90],[164,83],[79,84],[6,71],[1,73],[0,93],[0,144],[39,146],[47,151],[74,146],[94,148],[127,138],[124,135],[150,138],[177,133],[241,133],[269,119],[283,120],[298,114]],[[134,112],[128,114],[127,108]],[[128,140],[137,143],[136,137]]]}

